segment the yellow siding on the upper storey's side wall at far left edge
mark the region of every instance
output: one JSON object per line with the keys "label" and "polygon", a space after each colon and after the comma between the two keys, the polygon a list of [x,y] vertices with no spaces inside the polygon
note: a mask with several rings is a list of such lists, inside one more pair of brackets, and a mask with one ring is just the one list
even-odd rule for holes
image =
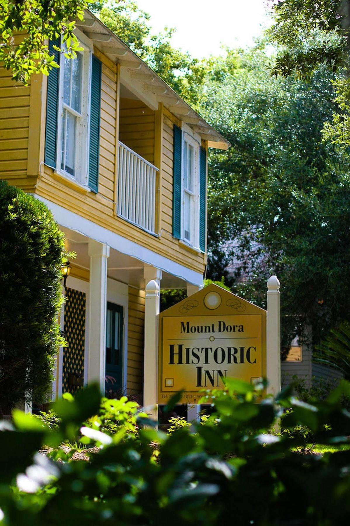
{"label": "yellow siding on the upper storey's side wall at far left edge", "polygon": [[0,68],[0,178],[28,188],[30,85],[14,83],[11,71]]}

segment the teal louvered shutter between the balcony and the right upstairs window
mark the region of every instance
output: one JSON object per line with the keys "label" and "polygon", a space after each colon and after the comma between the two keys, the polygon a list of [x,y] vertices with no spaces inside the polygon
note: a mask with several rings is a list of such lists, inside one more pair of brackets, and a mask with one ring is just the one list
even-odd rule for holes
{"label": "teal louvered shutter between the balcony and the right upstairs window", "polygon": [[182,131],[174,124],[174,158],[172,181],[172,235],[181,239],[181,157]]}

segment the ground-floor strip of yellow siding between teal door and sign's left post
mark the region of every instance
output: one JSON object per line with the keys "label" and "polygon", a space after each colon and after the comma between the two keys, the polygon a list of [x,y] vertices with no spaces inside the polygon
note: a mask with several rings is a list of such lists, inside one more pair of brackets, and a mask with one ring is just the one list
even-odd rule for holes
{"label": "ground-floor strip of yellow siding between teal door and sign's left post", "polygon": [[142,393],[145,291],[129,287],[127,390]]}

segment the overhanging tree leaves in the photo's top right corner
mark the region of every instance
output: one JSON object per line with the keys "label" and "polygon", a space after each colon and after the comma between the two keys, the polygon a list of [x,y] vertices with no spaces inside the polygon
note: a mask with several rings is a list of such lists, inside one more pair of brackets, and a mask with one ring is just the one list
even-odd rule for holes
{"label": "overhanging tree leaves in the photo's top right corner", "polygon": [[343,77],[331,79],[335,93],[334,109],[325,122],[326,140],[350,145],[350,2],[348,0],[283,0],[270,2],[275,17],[267,32],[280,46],[273,73],[296,75],[310,80],[320,65]]}

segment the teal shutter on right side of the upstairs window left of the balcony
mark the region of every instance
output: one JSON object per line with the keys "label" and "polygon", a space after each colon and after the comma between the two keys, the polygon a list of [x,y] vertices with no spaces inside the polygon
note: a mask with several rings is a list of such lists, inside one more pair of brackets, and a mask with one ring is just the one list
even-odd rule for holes
{"label": "teal shutter on right side of the upstairs window left of the balcony", "polygon": [[89,146],[89,187],[98,192],[98,169],[100,156],[100,106],[101,106],[102,65],[92,55],[91,68],[91,109],[90,109],[90,146]]}

